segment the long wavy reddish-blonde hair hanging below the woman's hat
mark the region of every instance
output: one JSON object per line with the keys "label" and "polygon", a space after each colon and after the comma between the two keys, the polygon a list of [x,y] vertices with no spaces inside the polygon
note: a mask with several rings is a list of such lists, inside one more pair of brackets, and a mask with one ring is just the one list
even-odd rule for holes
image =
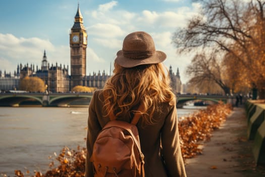
{"label": "long wavy reddish-blonde hair hanging below the woman's hat", "polygon": [[159,103],[176,104],[168,70],[162,63],[123,68],[115,62],[114,66],[114,75],[106,81],[102,92],[108,115],[118,118],[134,112],[141,114],[144,123],[152,124],[153,113],[161,111]]}

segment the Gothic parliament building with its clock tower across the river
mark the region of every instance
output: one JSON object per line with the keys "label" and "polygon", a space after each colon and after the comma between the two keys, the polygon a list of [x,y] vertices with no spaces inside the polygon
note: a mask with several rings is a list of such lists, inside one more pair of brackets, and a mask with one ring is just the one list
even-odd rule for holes
{"label": "Gothic parliament building with its clock tower across the river", "polygon": [[[67,93],[76,85],[97,87],[101,89],[105,81],[110,77],[104,71],[100,73],[86,75],[86,47],[87,33],[83,24],[83,16],[78,5],[75,15],[74,25],[70,32],[70,56],[71,73],[69,66],[56,63],[49,64],[44,50],[41,67],[34,65],[18,65],[14,74],[3,73],[0,70],[0,90],[14,90],[19,88],[19,82],[26,76],[36,76],[41,78],[47,85],[47,90],[52,93]],[[173,73],[170,66],[171,86],[175,92],[181,91],[181,81],[179,70]]]}

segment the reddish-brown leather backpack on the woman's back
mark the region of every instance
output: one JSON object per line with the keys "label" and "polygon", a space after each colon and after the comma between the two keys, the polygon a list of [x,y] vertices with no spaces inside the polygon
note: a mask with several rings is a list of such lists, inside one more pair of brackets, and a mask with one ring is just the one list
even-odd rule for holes
{"label": "reddish-brown leather backpack on the woman's back", "polygon": [[90,161],[95,177],[144,177],[144,156],[138,129],[140,114],[131,123],[111,118],[99,132]]}

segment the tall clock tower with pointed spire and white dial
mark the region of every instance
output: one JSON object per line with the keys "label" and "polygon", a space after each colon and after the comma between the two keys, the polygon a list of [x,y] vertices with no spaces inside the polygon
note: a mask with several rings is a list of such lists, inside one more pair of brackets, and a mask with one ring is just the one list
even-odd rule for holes
{"label": "tall clock tower with pointed spire and white dial", "polygon": [[86,46],[87,34],[83,25],[83,16],[79,9],[75,15],[75,23],[70,33],[71,48],[71,88],[76,85],[83,85],[83,78],[86,76]]}

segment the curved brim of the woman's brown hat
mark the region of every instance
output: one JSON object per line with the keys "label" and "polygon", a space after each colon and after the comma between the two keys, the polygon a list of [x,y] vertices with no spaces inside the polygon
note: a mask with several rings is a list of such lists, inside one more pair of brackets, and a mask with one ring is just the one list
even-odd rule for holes
{"label": "curved brim of the woman's brown hat", "polygon": [[165,61],[166,58],[167,58],[167,55],[164,52],[155,51],[155,53],[149,58],[140,59],[140,60],[131,59],[131,58],[125,57],[123,55],[123,51],[120,50],[117,52],[117,57],[115,61],[117,62],[117,64],[119,64],[120,66],[124,68],[132,68],[132,67],[139,66],[139,65],[161,63]]}

